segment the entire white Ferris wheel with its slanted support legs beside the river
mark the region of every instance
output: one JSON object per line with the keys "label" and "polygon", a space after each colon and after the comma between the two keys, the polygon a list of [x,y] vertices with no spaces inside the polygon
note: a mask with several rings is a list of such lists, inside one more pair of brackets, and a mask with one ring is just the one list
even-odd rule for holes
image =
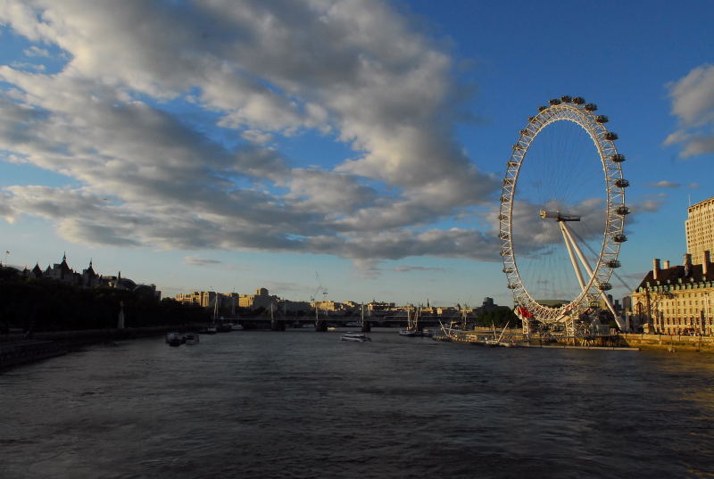
{"label": "entire white Ferris wheel with its slanted support legs beside the river", "polygon": [[602,303],[619,268],[629,186],[617,134],[594,103],[561,96],[520,130],[503,179],[499,214],[503,273],[528,333],[534,321],[573,328]]}

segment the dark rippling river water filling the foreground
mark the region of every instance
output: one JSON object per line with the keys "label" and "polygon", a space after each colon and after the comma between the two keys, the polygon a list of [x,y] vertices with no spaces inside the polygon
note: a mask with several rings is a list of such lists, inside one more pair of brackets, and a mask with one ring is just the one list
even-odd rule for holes
{"label": "dark rippling river water filling the foreground", "polygon": [[714,477],[714,356],[394,332],[96,346],[0,374],[0,478]]}

